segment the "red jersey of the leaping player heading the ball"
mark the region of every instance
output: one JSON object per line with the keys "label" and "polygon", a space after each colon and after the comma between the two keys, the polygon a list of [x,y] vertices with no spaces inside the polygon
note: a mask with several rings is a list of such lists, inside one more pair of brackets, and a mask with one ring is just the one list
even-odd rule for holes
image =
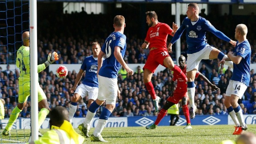
{"label": "red jersey of the leaping player heading the ball", "polygon": [[172,29],[165,23],[159,23],[154,27],[149,27],[145,41],[149,42],[148,48],[156,47],[167,50],[166,41],[168,34],[171,35]]}

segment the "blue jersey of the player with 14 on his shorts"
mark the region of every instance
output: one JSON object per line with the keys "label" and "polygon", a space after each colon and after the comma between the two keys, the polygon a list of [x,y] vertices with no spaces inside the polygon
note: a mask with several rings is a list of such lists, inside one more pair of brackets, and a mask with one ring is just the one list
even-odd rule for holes
{"label": "blue jersey of the player with 14 on his shorts", "polygon": [[234,49],[235,56],[243,57],[238,65],[233,63],[233,75],[231,80],[240,81],[249,86],[250,83],[250,62],[251,62],[251,47],[248,40],[241,42]]}

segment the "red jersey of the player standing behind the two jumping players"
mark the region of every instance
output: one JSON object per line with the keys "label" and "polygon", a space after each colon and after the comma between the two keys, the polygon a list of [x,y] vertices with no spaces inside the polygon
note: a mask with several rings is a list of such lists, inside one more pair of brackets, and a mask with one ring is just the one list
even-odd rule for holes
{"label": "red jersey of the player standing behind the two jumping players", "polygon": [[[186,75],[187,74],[187,65],[185,65],[185,67],[183,68],[183,69],[181,69],[182,70],[182,72]],[[198,75],[199,75],[199,71],[197,71],[196,72],[196,74],[195,74],[195,77],[198,77]],[[177,73],[173,73],[173,78],[172,78],[172,80],[173,81],[176,81],[176,80],[178,80],[177,81],[177,87],[176,87],[176,89],[175,89],[175,91],[177,92],[177,91],[187,91],[187,84],[186,84],[186,82],[184,82],[184,80],[182,80],[182,78],[181,78],[181,76],[180,76],[180,74],[179,75],[177,75]]]}

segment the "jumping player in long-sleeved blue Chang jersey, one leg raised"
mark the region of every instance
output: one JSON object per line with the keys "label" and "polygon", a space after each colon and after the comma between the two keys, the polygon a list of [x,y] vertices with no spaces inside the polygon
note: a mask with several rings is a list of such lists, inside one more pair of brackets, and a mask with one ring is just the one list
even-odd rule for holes
{"label": "jumping player in long-sleeved blue Chang jersey, one leg raised", "polygon": [[[199,7],[196,3],[188,5],[187,17],[183,20],[180,28],[176,31],[169,46],[168,51],[172,51],[172,45],[180,38],[182,33],[186,31],[186,42],[188,47],[187,58],[187,77],[188,77],[188,96],[190,98],[190,117],[195,118],[196,106],[194,102],[195,96],[195,74],[198,70],[199,63],[202,59],[222,59],[227,57],[224,53],[215,47],[212,47],[206,43],[206,31],[213,33],[218,38],[225,40],[232,45],[236,45],[236,42],[228,38],[222,32],[217,30],[208,20],[199,16]],[[226,65],[233,67],[232,62],[226,62]]]}

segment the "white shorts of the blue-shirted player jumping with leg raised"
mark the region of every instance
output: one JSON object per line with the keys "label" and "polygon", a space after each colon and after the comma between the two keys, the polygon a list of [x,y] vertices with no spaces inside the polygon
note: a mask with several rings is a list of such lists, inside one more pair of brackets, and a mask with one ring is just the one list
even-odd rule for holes
{"label": "white shorts of the blue-shirted player jumping with leg raised", "polygon": [[193,70],[194,68],[196,70],[199,70],[199,63],[201,62],[202,59],[209,59],[209,55],[211,51],[215,47],[206,45],[202,50],[199,52],[193,53],[193,54],[187,54],[188,59],[187,59],[187,72]]}

